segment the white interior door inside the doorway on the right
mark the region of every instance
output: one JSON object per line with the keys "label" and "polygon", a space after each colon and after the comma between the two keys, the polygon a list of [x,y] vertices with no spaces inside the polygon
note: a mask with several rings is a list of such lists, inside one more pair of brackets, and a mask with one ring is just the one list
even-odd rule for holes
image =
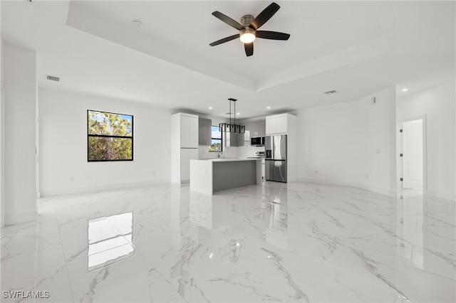
{"label": "white interior door inside the doorway on the right", "polygon": [[423,188],[423,119],[403,122],[403,188]]}

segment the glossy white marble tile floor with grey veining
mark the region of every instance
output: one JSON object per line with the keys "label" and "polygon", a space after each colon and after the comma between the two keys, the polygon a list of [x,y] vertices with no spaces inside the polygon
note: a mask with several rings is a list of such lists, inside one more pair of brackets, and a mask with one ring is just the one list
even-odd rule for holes
{"label": "glossy white marble tile floor with grey veining", "polygon": [[0,302],[456,302],[455,201],[414,191],[160,184],[38,209],[1,230]]}

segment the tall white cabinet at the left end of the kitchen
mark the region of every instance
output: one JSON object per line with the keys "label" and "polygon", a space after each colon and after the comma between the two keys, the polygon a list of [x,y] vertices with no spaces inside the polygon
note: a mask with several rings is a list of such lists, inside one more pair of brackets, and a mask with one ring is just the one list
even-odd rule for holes
{"label": "tall white cabinet at the left end of the kitchen", "polygon": [[190,180],[190,160],[198,159],[198,116],[179,112],[171,117],[171,181]]}

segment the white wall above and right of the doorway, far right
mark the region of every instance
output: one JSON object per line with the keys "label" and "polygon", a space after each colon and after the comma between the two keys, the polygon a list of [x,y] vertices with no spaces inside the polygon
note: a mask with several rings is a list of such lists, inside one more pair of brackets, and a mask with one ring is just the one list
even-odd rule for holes
{"label": "white wall above and right of the doorway, far right", "polygon": [[426,116],[425,194],[455,200],[455,80],[398,98],[398,120]]}

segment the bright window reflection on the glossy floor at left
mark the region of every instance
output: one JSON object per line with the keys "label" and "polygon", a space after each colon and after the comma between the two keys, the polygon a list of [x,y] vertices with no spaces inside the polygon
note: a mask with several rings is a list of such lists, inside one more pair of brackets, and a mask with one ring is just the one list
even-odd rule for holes
{"label": "bright window reflection on the glossy floor at left", "polygon": [[88,221],[88,271],[134,254],[133,212]]}

